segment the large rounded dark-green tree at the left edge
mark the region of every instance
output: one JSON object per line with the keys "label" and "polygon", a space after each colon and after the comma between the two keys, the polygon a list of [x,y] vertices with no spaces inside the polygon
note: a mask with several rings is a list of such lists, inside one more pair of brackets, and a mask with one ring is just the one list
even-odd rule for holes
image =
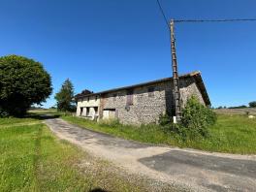
{"label": "large rounded dark-green tree at the left edge", "polygon": [[31,105],[45,102],[51,91],[41,63],[17,55],[0,57],[0,115],[22,116]]}

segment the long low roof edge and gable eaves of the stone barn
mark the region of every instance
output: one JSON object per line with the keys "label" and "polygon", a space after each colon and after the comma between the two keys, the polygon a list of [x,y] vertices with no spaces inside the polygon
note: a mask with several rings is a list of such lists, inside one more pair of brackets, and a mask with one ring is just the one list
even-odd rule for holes
{"label": "long low roof edge and gable eaves of the stone barn", "polygon": [[[188,74],[184,74],[179,76],[179,79],[183,79],[183,78],[189,78],[192,77],[194,78],[194,80],[196,81],[201,94],[203,95],[203,99],[205,101],[205,103],[207,105],[210,105],[210,101],[208,98],[208,92],[206,89],[206,86],[204,84],[204,81],[201,77],[201,72],[199,71],[195,71],[192,73],[188,73]],[[96,93],[91,93],[91,94],[78,94],[75,96],[76,99],[80,99],[83,97],[87,97],[87,96],[93,96],[93,95],[102,95],[102,94],[106,94],[106,93],[111,93],[111,92],[115,92],[115,91],[119,91],[119,90],[123,90],[123,89],[131,89],[131,88],[135,88],[135,87],[140,87],[140,86],[144,86],[144,85],[151,85],[151,84],[155,84],[155,83],[159,83],[159,82],[165,82],[165,81],[170,81],[173,80],[173,78],[164,78],[164,79],[160,79],[160,80],[151,80],[151,81],[147,81],[147,82],[142,82],[142,83],[138,83],[138,84],[133,84],[133,85],[129,85],[129,86],[122,86],[122,87],[117,87],[117,88],[112,88],[109,90],[105,90],[105,91],[100,91],[100,92],[96,92]]]}

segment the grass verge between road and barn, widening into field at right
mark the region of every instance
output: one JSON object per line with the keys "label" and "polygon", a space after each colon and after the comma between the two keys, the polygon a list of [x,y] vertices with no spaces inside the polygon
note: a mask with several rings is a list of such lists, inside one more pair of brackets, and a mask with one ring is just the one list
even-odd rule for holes
{"label": "grass verge between road and barn, widening into field at right", "polygon": [[166,133],[158,125],[141,127],[118,123],[97,123],[83,118],[62,115],[64,120],[95,131],[150,144],[169,144],[207,151],[256,154],[256,119],[245,115],[218,114],[217,123],[209,128],[207,139],[183,141],[175,133]]}

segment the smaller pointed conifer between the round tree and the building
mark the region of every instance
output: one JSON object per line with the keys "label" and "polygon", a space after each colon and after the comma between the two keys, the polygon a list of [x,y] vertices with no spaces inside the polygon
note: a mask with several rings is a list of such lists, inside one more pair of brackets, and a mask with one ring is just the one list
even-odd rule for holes
{"label": "smaller pointed conifer between the round tree and the building", "polygon": [[63,82],[60,91],[55,95],[55,100],[57,100],[57,110],[60,112],[74,112],[76,110],[74,86],[71,80],[67,79]]}

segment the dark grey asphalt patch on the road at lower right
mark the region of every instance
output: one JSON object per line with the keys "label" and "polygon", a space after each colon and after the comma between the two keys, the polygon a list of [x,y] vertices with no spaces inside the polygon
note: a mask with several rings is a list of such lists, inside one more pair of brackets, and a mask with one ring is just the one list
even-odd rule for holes
{"label": "dark grey asphalt patch on the road at lower right", "polygon": [[256,178],[255,161],[194,154],[186,151],[172,150],[142,158],[139,162],[150,169],[167,174],[182,174],[185,169],[195,167],[236,176]]}

